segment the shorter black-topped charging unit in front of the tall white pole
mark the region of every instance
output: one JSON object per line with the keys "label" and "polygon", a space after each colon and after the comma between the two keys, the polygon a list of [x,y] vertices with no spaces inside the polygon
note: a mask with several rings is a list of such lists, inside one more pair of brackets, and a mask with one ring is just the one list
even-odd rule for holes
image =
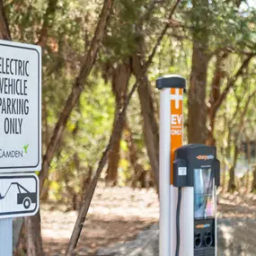
{"label": "shorter black-topped charging unit in front of the tall white pole", "polygon": [[216,187],[219,186],[216,147],[191,144],[178,148],[173,163],[173,185],[179,188],[178,255],[216,256]]}

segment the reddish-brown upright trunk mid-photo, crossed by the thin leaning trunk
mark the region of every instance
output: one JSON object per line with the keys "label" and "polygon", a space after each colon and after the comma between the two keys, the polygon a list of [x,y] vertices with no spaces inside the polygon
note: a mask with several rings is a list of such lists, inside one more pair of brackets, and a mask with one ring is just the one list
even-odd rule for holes
{"label": "reddish-brown upright trunk mid-photo, crossed by the thin leaning trunk", "polygon": [[[113,71],[112,78],[112,91],[116,98],[116,110],[115,117],[117,113],[122,110],[128,93],[128,81],[130,77],[130,66],[126,63],[120,64]],[[115,123],[116,120],[114,120]],[[122,121],[125,122],[125,119]],[[124,126],[124,124],[121,124]],[[114,129],[114,127],[113,127]],[[122,136],[122,130],[119,131],[119,134],[116,135],[116,141],[112,145],[110,154],[109,154],[109,165],[107,169],[106,181],[110,182],[111,185],[116,185],[118,180],[118,168],[119,168],[119,159],[120,159],[120,139]]]}

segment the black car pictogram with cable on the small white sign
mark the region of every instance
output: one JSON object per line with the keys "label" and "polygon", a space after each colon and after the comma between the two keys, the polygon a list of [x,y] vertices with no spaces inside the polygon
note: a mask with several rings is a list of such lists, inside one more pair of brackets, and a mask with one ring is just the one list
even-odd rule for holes
{"label": "black car pictogram with cable on the small white sign", "polygon": [[25,209],[28,209],[31,207],[31,204],[37,202],[37,193],[36,192],[30,192],[29,190],[26,190],[20,183],[18,182],[12,182],[4,194],[4,196],[0,193],[0,200],[4,199],[8,193],[8,191],[13,187],[17,186],[17,189],[19,192],[17,193],[17,205],[23,205]]}

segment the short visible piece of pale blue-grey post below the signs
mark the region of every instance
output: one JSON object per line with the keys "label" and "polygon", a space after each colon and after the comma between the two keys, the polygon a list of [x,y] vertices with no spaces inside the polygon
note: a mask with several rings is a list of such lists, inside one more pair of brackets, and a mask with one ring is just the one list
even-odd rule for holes
{"label": "short visible piece of pale blue-grey post below the signs", "polygon": [[13,255],[13,218],[0,219],[0,256]]}

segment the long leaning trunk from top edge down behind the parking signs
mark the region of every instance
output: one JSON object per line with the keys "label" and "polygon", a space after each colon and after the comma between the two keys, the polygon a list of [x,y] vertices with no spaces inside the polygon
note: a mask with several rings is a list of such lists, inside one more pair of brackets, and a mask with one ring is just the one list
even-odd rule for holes
{"label": "long leaning trunk from top edge down behind the parking signs", "polygon": [[[49,176],[49,164],[56,152],[59,140],[61,139],[65,131],[67,120],[72,110],[75,108],[75,104],[84,90],[85,81],[93,68],[93,64],[97,57],[98,50],[101,47],[103,36],[105,34],[105,28],[106,28],[107,20],[109,18],[111,6],[112,6],[112,0],[104,1],[103,7],[102,7],[102,13],[100,15],[96,31],[94,33],[91,47],[87,52],[87,55],[84,57],[84,62],[81,66],[80,73],[75,80],[75,84],[73,85],[72,92],[69,94],[66,100],[65,108],[61,112],[59,119],[57,120],[57,124],[53,132],[53,136],[50,139],[46,154],[43,157],[43,163],[42,163],[42,168],[40,172],[40,191],[42,190],[44,181]],[[29,248],[28,256],[43,255],[42,239],[40,236],[40,211],[36,216],[26,217],[26,225],[27,225],[28,248]]]}

